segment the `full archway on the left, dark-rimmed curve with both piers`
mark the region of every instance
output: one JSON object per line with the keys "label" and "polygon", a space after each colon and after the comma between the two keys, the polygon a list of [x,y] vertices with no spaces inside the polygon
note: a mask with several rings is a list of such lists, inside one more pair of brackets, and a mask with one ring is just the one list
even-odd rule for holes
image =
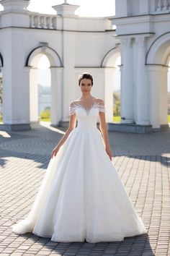
{"label": "full archway on the left, dark-rimmed curve with both piers", "polygon": [[30,83],[30,121],[37,121],[37,71],[40,58],[45,55],[50,62],[51,75],[51,125],[56,126],[62,117],[62,72],[63,64],[60,56],[45,43],[31,51],[26,61],[26,68],[29,69]]}

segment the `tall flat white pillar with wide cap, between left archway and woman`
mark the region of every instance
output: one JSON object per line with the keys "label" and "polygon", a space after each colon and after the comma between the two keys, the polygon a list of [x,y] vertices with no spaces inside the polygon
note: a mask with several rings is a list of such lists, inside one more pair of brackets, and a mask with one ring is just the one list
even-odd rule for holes
{"label": "tall flat white pillar with wide cap, between left archway and woman", "polygon": [[[61,16],[62,25],[62,52],[63,52],[63,72],[62,72],[62,117],[60,125],[63,126],[69,120],[69,103],[75,98],[75,56],[76,56],[76,34],[69,33],[69,30],[76,29],[76,9],[79,5],[63,4],[53,6],[53,9]],[[53,116],[56,119],[56,114]]]}

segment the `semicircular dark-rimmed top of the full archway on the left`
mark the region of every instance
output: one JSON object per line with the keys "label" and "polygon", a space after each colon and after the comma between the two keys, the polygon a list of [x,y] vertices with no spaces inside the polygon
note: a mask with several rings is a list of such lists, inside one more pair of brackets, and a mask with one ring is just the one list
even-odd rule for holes
{"label": "semicircular dark-rimmed top of the full archway on the left", "polygon": [[47,46],[39,46],[37,48],[34,48],[27,56],[25,66],[31,67],[33,60],[33,65],[37,67],[40,55],[42,54],[45,54],[48,57],[50,61],[50,67],[63,67],[61,57],[58,55],[58,53],[54,51],[53,48]]}

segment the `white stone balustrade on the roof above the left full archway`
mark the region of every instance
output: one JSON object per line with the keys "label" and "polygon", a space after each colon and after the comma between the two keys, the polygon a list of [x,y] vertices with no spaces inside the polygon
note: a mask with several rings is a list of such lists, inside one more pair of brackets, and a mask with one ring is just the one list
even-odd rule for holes
{"label": "white stone balustrade on the roof above the left full archway", "polygon": [[30,14],[30,27],[54,30],[56,29],[56,16],[32,13]]}

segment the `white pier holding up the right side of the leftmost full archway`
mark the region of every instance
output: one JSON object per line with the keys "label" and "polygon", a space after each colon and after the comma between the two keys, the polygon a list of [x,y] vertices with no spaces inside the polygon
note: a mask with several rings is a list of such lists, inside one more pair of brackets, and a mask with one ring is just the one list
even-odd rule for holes
{"label": "white pier holding up the right side of the leftmost full archway", "polygon": [[56,126],[62,117],[63,68],[50,67],[51,72],[51,125]]}

